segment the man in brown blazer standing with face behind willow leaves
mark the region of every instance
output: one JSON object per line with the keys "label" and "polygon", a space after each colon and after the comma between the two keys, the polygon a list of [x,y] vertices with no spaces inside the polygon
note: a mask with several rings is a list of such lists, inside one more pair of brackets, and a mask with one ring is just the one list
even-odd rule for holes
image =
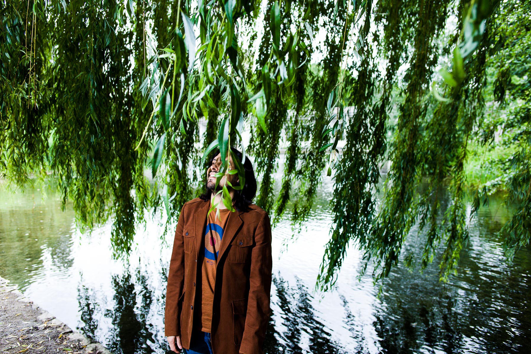
{"label": "man in brown blazer standing with face behind willow leaves", "polygon": [[[242,153],[232,148],[239,161]],[[261,354],[269,320],[271,226],[269,215],[252,204],[256,179],[245,159],[245,184],[238,175],[214,176],[219,150],[209,161],[205,193],[183,205],[172,251],[166,291],[165,335],[170,349],[187,354]],[[230,169],[235,169],[232,157]],[[236,212],[216,191],[227,186]],[[212,205],[216,210],[207,215]],[[185,350],[183,350],[185,348]]]}

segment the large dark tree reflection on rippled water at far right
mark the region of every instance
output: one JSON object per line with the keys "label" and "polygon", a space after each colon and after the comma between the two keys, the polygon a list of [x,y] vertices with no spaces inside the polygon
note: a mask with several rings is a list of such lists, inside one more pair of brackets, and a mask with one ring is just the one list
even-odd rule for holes
{"label": "large dark tree reflection on rippled water at far right", "polygon": [[[458,274],[448,284],[439,282],[442,248],[424,274],[398,267],[384,281],[374,323],[381,352],[531,352],[522,330],[531,327],[531,310],[523,306],[531,293],[531,253],[523,248],[508,261],[495,236],[501,224],[487,212],[469,223]],[[412,235],[406,248],[423,241]]]}

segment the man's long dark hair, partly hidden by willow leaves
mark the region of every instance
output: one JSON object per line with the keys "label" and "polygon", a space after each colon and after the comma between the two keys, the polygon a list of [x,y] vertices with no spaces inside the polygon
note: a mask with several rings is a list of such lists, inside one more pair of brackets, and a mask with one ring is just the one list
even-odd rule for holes
{"label": "man's long dark hair, partly hidden by willow leaves", "polygon": [[[234,146],[230,148],[238,160],[241,162],[243,154],[239,152],[238,149],[236,149]],[[212,160],[218,156],[219,149],[210,157],[210,160],[208,161],[207,169],[212,166]],[[243,168],[245,169],[245,184],[243,185],[243,188],[239,191],[235,191],[234,194],[234,208],[237,211],[247,211],[249,209],[249,205],[253,203],[253,199],[256,196],[256,177],[254,177],[254,170],[253,165],[251,163],[251,160],[248,158],[245,158],[245,163],[243,164]],[[207,188],[207,181],[205,180],[204,183],[204,189],[205,192],[201,194],[199,197],[204,201],[210,201],[210,198],[212,196],[212,191]]]}

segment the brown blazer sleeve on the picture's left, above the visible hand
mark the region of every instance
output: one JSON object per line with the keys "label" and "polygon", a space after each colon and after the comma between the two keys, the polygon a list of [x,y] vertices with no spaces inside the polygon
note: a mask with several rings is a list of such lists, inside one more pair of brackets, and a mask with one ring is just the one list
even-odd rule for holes
{"label": "brown blazer sleeve on the picture's left, above the visible hand", "polygon": [[[186,205],[186,204],[185,204]],[[182,301],[184,286],[184,206],[179,214],[173,241],[172,259],[169,263],[168,285],[166,287],[166,308],[164,313],[164,333],[166,336],[181,335]]]}

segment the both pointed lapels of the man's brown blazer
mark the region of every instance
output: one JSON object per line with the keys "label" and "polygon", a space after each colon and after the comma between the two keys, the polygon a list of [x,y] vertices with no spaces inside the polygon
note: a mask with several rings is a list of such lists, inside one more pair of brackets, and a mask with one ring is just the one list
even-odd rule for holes
{"label": "both pointed lapels of the man's brown blazer", "polygon": [[[210,201],[203,201],[202,205],[194,213],[194,226],[195,226],[195,259],[199,255],[200,246],[203,244],[204,233],[207,226],[207,214],[210,209]],[[221,246],[219,248],[218,260],[225,254],[228,246],[233,241],[239,228],[243,224],[241,214],[243,211],[229,212],[227,220],[227,226],[223,231],[223,238],[221,239]]]}

